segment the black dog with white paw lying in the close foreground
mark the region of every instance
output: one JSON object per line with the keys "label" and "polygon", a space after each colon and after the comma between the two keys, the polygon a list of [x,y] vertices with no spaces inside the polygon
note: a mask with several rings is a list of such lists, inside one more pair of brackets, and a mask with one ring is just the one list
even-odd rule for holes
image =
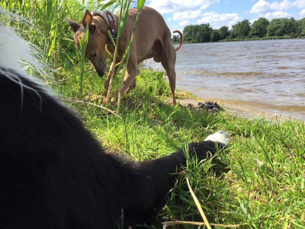
{"label": "black dog with white paw lying in the close foreground", "polygon": [[[1,58],[0,228],[119,228],[122,209],[123,228],[147,223],[183,151],[144,162],[104,153],[73,111]],[[210,140],[225,144],[226,134]],[[190,157],[214,154],[210,140],[189,144]]]}

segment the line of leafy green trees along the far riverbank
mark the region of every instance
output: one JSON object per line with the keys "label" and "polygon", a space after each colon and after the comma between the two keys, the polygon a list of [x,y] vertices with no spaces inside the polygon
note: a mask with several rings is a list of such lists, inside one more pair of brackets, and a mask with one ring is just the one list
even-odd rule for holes
{"label": "line of leafy green trees along the far riverbank", "polygon": [[[260,17],[253,24],[248,19],[238,22],[229,30],[228,26],[213,29],[210,24],[188,25],[183,29],[183,38],[188,43],[217,42],[220,40],[305,36],[305,17],[300,20],[275,18],[269,21]],[[174,35],[172,42],[179,42],[179,35]]]}

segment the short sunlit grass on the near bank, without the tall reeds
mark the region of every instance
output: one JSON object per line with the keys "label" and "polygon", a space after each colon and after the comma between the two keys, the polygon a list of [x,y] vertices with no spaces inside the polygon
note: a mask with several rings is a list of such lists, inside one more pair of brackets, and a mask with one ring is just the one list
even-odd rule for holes
{"label": "short sunlit grass on the near bank, without the tall reeds", "polygon": [[[170,88],[162,75],[141,71],[137,87],[124,96],[119,108],[121,119],[113,115],[107,119],[99,108],[72,102],[107,151],[137,161],[168,155],[219,129],[231,133],[226,152],[220,152],[213,161],[188,164],[170,201],[158,214],[155,227],[173,220],[202,222],[186,185],[188,177],[210,223],[247,223],[244,228],[305,228],[304,123],[286,120],[271,124],[264,118],[250,121],[227,112],[214,116],[171,107],[165,102],[170,98]],[[100,85],[102,80],[96,75],[84,83],[86,101],[94,102],[99,97],[95,89]],[[77,94],[77,82],[69,80],[59,88],[66,98]]]}

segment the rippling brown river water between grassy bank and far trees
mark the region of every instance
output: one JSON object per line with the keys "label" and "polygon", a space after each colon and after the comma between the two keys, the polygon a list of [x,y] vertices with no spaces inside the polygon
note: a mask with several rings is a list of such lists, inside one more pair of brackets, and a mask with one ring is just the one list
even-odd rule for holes
{"label": "rippling brown river water between grassy bank and far trees", "polygon": [[175,69],[178,89],[231,112],[305,121],[305,39],[183,44]]}

